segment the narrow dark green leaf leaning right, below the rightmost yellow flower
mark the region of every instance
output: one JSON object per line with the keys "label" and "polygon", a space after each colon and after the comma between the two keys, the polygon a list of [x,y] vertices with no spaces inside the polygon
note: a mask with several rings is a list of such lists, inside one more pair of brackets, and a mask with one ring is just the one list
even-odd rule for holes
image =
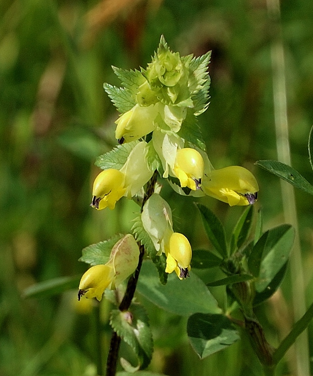
{"label": "narrow dark green leaf leaning right, below the rightmost yellow flower", "polygon": [[253,205],[249,205],[237,222],[231,238],[231,254],[236,252],[249,236],[252,225]]}

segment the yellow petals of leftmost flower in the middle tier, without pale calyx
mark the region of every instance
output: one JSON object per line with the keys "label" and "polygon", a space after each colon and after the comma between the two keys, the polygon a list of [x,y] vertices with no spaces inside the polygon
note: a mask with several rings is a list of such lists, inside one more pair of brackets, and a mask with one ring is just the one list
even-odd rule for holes
{"label": "yellow petals of leftmost flower in the middle tier, without pale calyx", "polygon": [[119,170],[108,169],[100,172],[93,182],[91,206],[99,210],[109,206],[113,210],[116,201],[126,191],[124,181],[125,176]]}

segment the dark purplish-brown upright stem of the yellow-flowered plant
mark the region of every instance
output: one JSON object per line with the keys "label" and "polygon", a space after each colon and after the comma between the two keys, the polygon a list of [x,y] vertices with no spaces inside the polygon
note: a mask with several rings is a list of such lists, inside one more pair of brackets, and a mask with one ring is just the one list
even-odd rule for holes
{"label": "dark purplish-brown upright stem of the yellow-flowered plant", "polygon": [[[155,188],[155,183],[156,183],[156,178],[158,177],[158,172],[154,171],[154,174],[152,175],[150,181],[147,184],[145,194],[142,200],[141,204],[141,211],[143,209],[143,205],[145,204],[146,200],[154,193],[154,188]],[[125,291],[125,295],[123,297],[123,300],[121,304],[119,305],[119,310],[120,311],[126,311],[134,297],[139,274],[140,274],[140,269],[144,257],[144,246],[138,243],[139,245],[139,260],[138,260],[138,265],[136,268],[136,271],[134,275],[132,275],[127,283],[127,288]],[[110,349],[109,349],[109,354],[108,354],[108,359],[107,359],[107,376],[115,376],[116,374],[116,368],[117,368],[117,360],[118,360],[118,352],[121,344],[121,337],[118,336],[116,332],[113,332],[112,338],[111,338],[111,343],[110,343]]]}

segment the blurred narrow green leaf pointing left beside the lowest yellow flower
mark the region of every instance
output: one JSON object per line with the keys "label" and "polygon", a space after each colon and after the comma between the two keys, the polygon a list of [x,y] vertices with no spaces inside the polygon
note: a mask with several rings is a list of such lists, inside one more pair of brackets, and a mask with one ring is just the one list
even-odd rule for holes
{"label": "blurred narrow green leaf pointing left beside the lowest yellow flower", "polygon": [[42,298],[44,296],[58,295],[70,289],[78,289],[81,276],[58,277],[36,283],[23,291],[24,298]]}

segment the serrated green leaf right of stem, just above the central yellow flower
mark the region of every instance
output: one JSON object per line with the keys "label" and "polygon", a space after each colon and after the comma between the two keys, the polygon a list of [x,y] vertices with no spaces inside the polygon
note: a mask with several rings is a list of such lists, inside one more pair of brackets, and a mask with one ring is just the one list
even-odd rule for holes
{"label": "serrated green leaf right of stem, just above the central yellow flower", "polygon": [[200,150],[206,150],[198,120],[189,109],[187,109],[186,119],[177,134],[185,141],[197,146]]}

